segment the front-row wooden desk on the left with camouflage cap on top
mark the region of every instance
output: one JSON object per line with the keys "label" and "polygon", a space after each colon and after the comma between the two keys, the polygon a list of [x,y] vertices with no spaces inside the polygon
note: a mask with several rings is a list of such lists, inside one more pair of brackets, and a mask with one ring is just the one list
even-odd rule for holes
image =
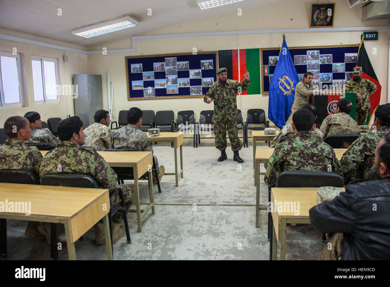
{"label": "front-row wooden desk on the left with camouflage cap on top", "polygon": [[[181,132],[161,132],[160,135],[151,137],[149,136],[151,143],[174,143],[174,155],[175,155],[175,173],[164,173],[164,175],[174,175],[176,179],[176,186],[179,186],[179,175],[183,178],[183,133]],[[177,171],[177,148],[180,147],[180,170]]]}

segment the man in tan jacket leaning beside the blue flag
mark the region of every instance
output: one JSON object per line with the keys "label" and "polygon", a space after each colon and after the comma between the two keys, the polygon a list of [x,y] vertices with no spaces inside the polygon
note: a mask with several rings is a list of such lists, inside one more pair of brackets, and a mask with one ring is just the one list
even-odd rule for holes
{"label": "man in tan jacket leaning beside the blue flag", "polygon": [[303,75],[303,80],[296,85],[294,103],[293,107],[291,107],[291,117],[294,112],[302,109],[307,103],[310,103],[310,96],[322,92],[321,90],[314,89],[312,81],[313,73],[306,72],[305,75]]}

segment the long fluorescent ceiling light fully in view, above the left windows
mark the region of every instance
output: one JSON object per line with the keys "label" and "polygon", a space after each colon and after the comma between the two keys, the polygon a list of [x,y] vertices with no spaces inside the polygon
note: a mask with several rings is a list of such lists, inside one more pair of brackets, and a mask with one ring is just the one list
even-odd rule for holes
{"label": "long fluorescent ceiling light fully in view, above the left windows", "polygon": [[101,23],[85,26],[79,29],[72,30],[72,34],[85,38],[95,37],[106,33],[115,32],[118,30],[134,27],[138,25],[138,21],[126,15],[121,18],[104,21]]}

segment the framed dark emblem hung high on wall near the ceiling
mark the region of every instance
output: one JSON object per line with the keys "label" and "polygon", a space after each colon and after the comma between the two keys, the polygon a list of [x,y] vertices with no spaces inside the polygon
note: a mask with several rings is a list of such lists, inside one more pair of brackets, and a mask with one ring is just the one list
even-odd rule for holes
{"label": "framed dark emblem hung high on wall near the ceiling", "polygon": [[311,4],[310,28],[333,27],[335,3]]}

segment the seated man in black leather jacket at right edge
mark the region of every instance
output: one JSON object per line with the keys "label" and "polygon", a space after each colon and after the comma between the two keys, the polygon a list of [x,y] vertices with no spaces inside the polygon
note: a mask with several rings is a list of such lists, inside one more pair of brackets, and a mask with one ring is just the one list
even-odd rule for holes
{"label": "seated man in black leather jacket at right edge", "polygon": [[375,150],[379,180],[356,180],[345,192],[309,210],[310,222],[330,239],[319,260],[390,258],[390,134]]}

